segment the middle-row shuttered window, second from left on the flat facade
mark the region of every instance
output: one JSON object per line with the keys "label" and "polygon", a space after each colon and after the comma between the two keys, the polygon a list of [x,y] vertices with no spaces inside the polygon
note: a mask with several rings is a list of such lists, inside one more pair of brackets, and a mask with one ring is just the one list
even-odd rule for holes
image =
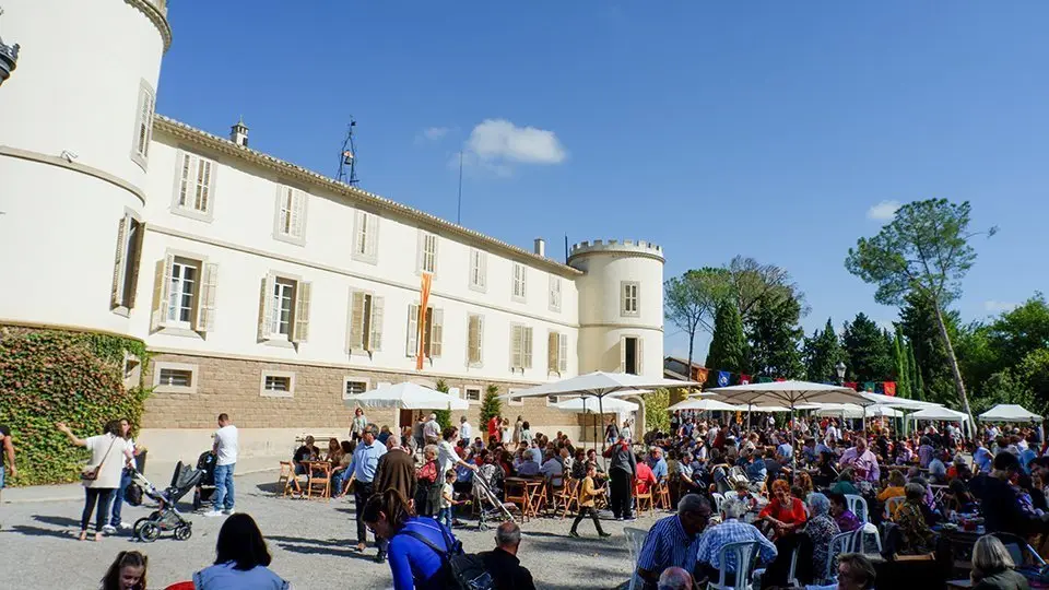
{"label": "middle-row shuttered window, second from left on the flat facade", "polygon": [[259,341],[300,344],[309,339],[311,283],[270,273],[263,279]]}

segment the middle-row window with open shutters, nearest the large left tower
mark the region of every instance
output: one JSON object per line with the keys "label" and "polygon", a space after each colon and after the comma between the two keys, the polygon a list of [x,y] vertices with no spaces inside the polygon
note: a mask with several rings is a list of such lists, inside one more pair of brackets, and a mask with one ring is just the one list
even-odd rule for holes
{"label": "middle-row window with open shutters, nearest the large left tower", "polygon": [[214,330],[219,264],[168,252],[156,263],[154,285],[152,331]]}

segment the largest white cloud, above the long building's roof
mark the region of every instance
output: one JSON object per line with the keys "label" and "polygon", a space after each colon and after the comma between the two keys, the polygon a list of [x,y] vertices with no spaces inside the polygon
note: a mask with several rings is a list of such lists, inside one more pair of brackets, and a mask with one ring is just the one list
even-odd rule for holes
{"label": "largest white cloud, above the long building's roof", "polygon": [[506,119],[485,119],[474,127],[467,153],[486,165],[561,164],[568,157],[553,131],[518,127]]}

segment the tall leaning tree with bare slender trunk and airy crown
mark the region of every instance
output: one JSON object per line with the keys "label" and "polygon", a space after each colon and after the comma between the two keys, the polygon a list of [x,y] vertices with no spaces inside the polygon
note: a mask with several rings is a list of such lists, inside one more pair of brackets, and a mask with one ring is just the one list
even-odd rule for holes
{"label": "tall leaning tree with bare slender trunk and airy crown", "polygon": [[[973,411],[962,369],[947,332],[944,310],[962,293],[962,279],[976,261],[969,240],[970,206],[930,199],[905,204],[896,217],[872,238],[860,238],[845,261],[852,274],[877,285],[874,298],[886,305],[903,305],[908,295],[926,299],[936,317],[940,338],[957,396],[970,420]],[[987,232],[993,235],[995,228]]]}

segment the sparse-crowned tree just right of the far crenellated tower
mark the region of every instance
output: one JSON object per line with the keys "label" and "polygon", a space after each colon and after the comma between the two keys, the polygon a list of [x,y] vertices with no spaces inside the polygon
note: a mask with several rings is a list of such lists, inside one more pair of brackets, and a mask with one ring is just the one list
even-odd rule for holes
{"label": "sparse-crowned tree just right of the far crenellated tower", "polygon": [[696,333],[714,331],[714,316],[718,303],[724,299],[728,281],[723,269],[689,270],[667,281],[664,314],[671,323],[688,335],[688,366],[692,366]]}

